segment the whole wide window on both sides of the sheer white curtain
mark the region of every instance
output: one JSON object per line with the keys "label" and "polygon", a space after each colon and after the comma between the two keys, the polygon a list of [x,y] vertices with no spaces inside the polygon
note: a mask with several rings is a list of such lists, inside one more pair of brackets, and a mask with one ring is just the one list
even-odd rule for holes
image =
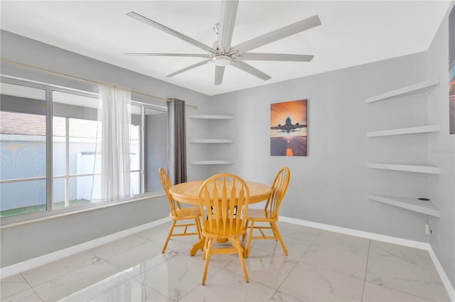
{"label": "whole wide window on both sides of the sheer white curtain", "polygon": [[[46,116],[46,94],[51,100],[47,103],[52,107],[50,117]],[[99,196],[97,186],[92,186],[100,172],[94,167],[97,96],[45,84],[36,89],[1,82],[0,104],[1,218],[80,206]],[[50,125],[52,135],[47,137]],[[167,167],[167,137],[166,107],[132,101],[134,195],[161,190],[158,169]],[[46,146],[52,157],[46,154]],[[46,174],[49,165],[52,169]]]}

